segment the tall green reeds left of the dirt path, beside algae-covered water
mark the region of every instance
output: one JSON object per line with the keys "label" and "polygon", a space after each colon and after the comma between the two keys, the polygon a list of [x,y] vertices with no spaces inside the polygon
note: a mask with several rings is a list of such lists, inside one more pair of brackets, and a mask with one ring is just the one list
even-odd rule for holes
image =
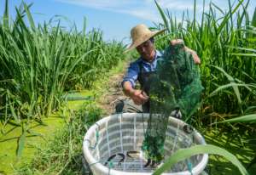
{"label": "tall green reeds left of the dirt path, beside algae-covered water", "polygon": [[36,25],[31,6],[21,3],[11,20],[6,0],[0,21],[1,132],[8,122],[22,127],[17,155],[31,121],[41,122],[58,110],[65,91],[91,88],[124,58],[120,42],[104,42],[100,30],[86,32],[85,20],[83,31],[65,31],[60,20]]}

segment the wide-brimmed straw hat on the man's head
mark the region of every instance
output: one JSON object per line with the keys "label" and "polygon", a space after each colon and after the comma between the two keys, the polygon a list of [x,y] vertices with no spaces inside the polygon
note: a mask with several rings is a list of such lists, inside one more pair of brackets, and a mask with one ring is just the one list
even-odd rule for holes
{"label": "wide-brimmed straw hat on the man's head", "polygon": [[132,43],[131,45],[125,50],[126,52],[129,52],[130,50],[132,50],[133,48],[137,48],[137,46],[139,46],[140,44],[142,44],[143,42],[146,42],[148,39],[150,39],[151,37],[154,37],[158,34],[160,34],[161,32],[166,31],[166,29],[160,30],[160,31],[150,31],[148,29],[147,25],[136,25],[135,27],[133,27],[131,29],[131,39],[132,39]]}

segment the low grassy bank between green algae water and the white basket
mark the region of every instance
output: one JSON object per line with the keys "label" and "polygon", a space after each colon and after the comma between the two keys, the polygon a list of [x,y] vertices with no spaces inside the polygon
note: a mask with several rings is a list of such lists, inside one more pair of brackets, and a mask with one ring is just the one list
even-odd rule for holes
{"label": "low grassy bank between green algae water and the white basket", "polygon": [[72,113],[66,125],[47,144],[38,147],[31,162],[16,170],[17,174],[83,174],[82,144],[84,133],[98,121],[102,110],[88,101]]}

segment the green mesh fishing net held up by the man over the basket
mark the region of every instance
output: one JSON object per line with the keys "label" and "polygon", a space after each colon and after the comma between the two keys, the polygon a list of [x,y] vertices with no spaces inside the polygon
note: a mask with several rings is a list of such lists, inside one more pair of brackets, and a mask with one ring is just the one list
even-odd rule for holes
{"label": "green mesh fishing net held up by the man over the basket", "polygon": [[142,146],[149,159],[163,160],[169,116],[180,111],[187,121],[200,104],[202,90],[199,67],[183,43],[168,46],[150,79],[150,111]]}

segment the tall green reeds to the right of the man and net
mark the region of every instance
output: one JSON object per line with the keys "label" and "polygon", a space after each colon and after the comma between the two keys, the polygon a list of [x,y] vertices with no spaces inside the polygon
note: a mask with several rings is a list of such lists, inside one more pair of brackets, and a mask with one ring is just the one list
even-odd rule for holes
{"label": "tall green reeds to the right of the man and net", "polygon": [[204,1],[201,20],[196,19],[195,5],[193,19],[189,13],[183,13],[181,21],[168,9],[164,13],[158,5],[163,23],[154,27],[167,28],[168,33],[156,40],[157,46],[164,48],[168,40],[183,38],[201,57],[204,115],[213,112],[241,115],[256,111],[252,108],[256,106],[256,9],[250,18],[249,1],[236,1],[233,6],[230,0],[227,3],[228,11],[214,3],[210,3],[206,11]]}

